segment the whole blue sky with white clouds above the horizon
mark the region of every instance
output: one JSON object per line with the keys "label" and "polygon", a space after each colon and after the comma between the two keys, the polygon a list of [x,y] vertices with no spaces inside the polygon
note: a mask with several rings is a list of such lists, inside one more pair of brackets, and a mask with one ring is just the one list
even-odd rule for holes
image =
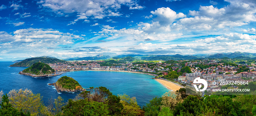
{"label": "whole blue sky with white clouds above the horizon", "polygon": [[256,53],[255,0],[1,0],[0,60]]}

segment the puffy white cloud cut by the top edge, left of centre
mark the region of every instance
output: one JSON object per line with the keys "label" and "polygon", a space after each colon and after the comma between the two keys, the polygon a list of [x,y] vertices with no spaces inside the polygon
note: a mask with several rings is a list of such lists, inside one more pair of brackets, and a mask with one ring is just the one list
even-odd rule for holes
{"label": "puffy white cloud cut by the top edge, left of centre", "polygon": [[[106,16],[121,16],[121,5],[129,9],[143,9],[137,0],[41,0],[37,4],[43,9],[50,9],[60,16],[78,13],[78,19],[103,19]],[[80,15],[80,16],[79,16]],[[76,21],[73,21],[76,22]],[[74,24],[74,23],[73,23]]]}

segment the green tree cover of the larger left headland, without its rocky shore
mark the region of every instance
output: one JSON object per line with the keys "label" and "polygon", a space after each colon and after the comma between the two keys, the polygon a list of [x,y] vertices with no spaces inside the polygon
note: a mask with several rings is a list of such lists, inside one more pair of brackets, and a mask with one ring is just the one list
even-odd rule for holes
{"label": "green tree cover of the larger left headland, without its rocky shore", "polygon": [[54,69],[52,69],[48,64],[38,62],[33,64],[31,67],[24,69],[22,72],[34,75],[48,75],[54,73]]}

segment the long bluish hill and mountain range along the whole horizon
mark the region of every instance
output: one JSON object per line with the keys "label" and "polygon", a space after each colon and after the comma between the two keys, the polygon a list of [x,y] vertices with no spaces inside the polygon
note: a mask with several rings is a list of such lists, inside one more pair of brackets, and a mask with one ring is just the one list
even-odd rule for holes
{"label": "long bluish hill and mountain range along the whole horizon", "polygon": [[[217,53],[214,55],[118,55],[118,56],[108,56],[108,55],[96,55],[87,57],[74,57],[65,60],[116,60],[118,62],[126,61],[139,61],[139,60],[190,60],[190,59],[240,59],[240,60],[256,60],[256,53],[248,52],[234,52],[234,53]],[[41,56],[34,57],[25,60],[18,60],[17,63],[10,65],[11,67],[30,67],[32,64],[41,61],[42,63],[63,63],[65,60],[60,60],[55,57]]]}

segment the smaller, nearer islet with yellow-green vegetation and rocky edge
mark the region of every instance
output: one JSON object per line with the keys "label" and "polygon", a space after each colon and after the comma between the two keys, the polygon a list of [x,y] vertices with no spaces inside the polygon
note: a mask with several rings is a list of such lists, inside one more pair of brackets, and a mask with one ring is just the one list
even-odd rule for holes
{"label": "smaller, nearer islet with yellow-green vegetation and rocky edge", "polygon": [[67,92],[75,92],[75,91],[86,91],[75,79],[63,76],[57,80],[57,82],[48,84],[54,85],[57,92],[67,91]]}

